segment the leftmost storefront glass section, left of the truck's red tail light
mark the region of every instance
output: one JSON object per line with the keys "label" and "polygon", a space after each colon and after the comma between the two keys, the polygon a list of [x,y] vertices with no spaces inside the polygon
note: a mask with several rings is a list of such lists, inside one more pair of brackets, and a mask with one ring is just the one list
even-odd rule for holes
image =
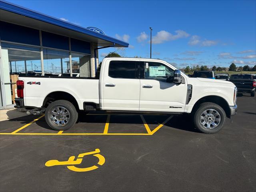
{"label": "leftmost storefront glass section, left of the truck's red tail light", "polygon": [[14,104],[15,88],[11,82],[18,76],[41,75],[40,48],[1,43],[2,74],[6,105]]}

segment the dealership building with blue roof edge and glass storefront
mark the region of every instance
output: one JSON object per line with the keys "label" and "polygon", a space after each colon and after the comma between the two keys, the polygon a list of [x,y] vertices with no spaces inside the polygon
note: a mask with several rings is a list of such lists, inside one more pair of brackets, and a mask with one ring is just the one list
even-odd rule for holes
{"label": "dealership building with blue roof edge and glass storefront", "polygon": [[94,77],[108,47],[128,43],[0,0],[0,109],[13,107],[18,76]]}

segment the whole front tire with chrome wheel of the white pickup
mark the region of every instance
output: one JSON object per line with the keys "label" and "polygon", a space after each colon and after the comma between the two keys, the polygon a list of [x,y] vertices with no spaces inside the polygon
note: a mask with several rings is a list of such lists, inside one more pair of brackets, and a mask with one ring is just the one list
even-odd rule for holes
{"label": "whole front tire with chrome wheel of the white pickup", "polygon": [[221,106],[212,102],[200,104],[193,113],[194,125],[203,133],[216,133],[223,128],[226,113]]}

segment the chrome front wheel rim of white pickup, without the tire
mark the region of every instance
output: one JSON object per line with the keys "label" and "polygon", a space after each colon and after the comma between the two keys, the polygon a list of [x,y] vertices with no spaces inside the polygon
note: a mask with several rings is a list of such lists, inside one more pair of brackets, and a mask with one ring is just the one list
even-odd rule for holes
{"label": "chrome front wheel rim of white pickup, without the tire", "polygon": [[207,129],[216,128],[220,124],[220,114],[214,109],[207,109],[202,112],[200,123]]}

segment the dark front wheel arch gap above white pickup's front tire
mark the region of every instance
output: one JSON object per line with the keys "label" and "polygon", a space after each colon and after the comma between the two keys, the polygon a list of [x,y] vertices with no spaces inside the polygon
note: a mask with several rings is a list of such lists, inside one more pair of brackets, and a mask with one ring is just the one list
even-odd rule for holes
{"label": "dark front wheel arch gap above white pickup's front tire", "polygon": [[200,98],[199,100],[197,100],[197,102],[194,104],[194,106],[192,108],[192,112],[194,112],[194,110],[196,110],[196,108],[201,103],[204,103],[204,102],[212,102],[212,103],[218,104],[219,106],[221,106],[223,108],[223,110],[226,113],[226,116],[228,118],[230,118],[230,108],[229,108],[228,102],[223,97],[216,96],[216,95],[204,96],[204,97]]}

